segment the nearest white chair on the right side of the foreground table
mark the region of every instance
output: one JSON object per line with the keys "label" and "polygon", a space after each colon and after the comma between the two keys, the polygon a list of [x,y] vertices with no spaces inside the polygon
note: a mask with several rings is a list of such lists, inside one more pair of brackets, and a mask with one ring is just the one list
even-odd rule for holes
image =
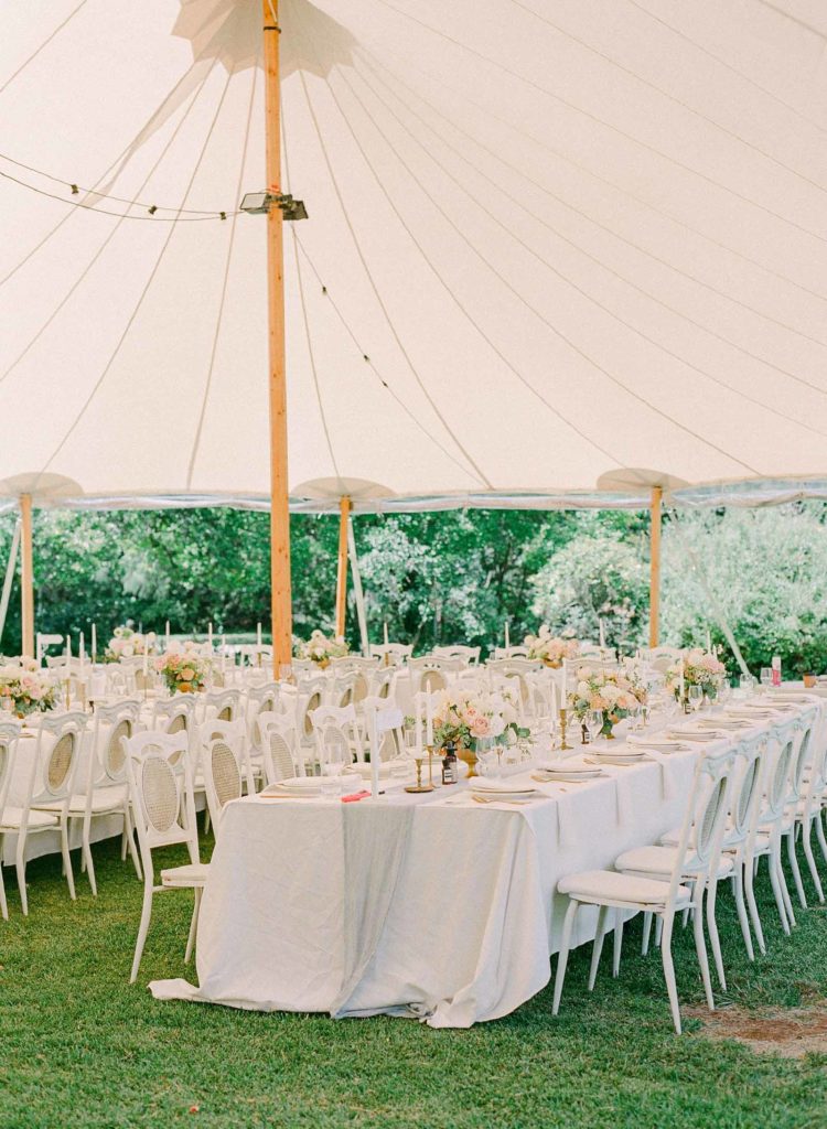
{"label": "nearest white chair on the right side of the foreground table", "polygon": [[[706,943],[703,929],[703,898],[707,877],[713,867],[721,860],[721,838],[726,819],[729,793],[735,751],[730,750],[721,756],[698,756],[695,765],[695,778],[686,809],[680,842],[672,848],[672,867],[668,881],[663,877],[651,877],[647,874],[634,873],[624,868],[621,855],[615,870],[586,870],[573,874],[558,883],[558,891],[568,894],[569,902],[563,924],[563,937],[557,960],[557,975],[552,1013],[557,1015],[566,977],[566,963],[572,943],[574,919],[581,905],[597,905],[598,928],[592,949],[592,963],[589,974],[589,990],[594,988],[594,980],[600,963],[603,937],[607,931],[609,910],[615,910],[616,918],[624,912],[647,912],[656,914],[663,922],[661,936],[661,959],[663,974],[667,981],[667,992],[672,1013],[674,1030],[680,1034],[680,1005],[678,988],[672,963],[672,927],[674,914],[685,909],[695,910],[695,944],[704,981],[706,1003],[714,1009],[710,965],[706,955]],[[643,850],[667,850],[669,848],[643,848]],[[634,855],[634,851],[626,852]],[[638,857],[634,861],[639,863]],[[685,876],[695,877],[695,890],[687,884]],[[616,934],[616,937],[620,934]],[[616,947],[613,972],[619,970],[620,953]]]}

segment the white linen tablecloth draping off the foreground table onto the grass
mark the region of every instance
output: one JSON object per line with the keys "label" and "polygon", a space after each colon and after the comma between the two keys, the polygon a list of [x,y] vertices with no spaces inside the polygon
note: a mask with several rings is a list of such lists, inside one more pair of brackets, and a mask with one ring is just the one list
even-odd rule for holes
{"label": "white linen tablecloth draping off the foreground table onto the grass", "polygon": [[[478,805],[460,797],[462,785],[358,804],[236,800],[203,894],[200,987],[150,989],[432,1026],[507,1015],[549,980],[566,904],[559,879],[674,826],[693,764],[691,752],[677,753],[591,784],[538,785],[548,798],[521,807]],[[577,944],[595,924],[597,913],[578,914]]]}

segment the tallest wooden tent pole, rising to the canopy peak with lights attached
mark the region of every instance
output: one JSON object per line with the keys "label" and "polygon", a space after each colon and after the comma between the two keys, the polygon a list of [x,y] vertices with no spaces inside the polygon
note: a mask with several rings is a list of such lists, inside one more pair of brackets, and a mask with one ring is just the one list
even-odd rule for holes
{"label": "tallest wooden tent pole, rising to the canopy peak with lights attached", "polygon": [[[264,130],[267,191],[281,192],[278,0],[262,0],[264,18]],[[267,217],[267,294],[270,385],[270,606],[273,676],[293,655],[290,511],[287,504],[287,390],[285,379],[284,215]]]}

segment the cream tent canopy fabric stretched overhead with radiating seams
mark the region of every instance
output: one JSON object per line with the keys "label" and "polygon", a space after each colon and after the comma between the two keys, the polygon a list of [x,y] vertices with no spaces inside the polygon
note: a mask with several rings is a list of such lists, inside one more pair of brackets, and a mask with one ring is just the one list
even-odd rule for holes
{"label": "cream tent canopy fabric stretched overhead with radiating seams", "polygon": [[[0,7],[0,479],[260,505],[260,0]],[[821,0],[280,14],[291,485],[824,492]]]}

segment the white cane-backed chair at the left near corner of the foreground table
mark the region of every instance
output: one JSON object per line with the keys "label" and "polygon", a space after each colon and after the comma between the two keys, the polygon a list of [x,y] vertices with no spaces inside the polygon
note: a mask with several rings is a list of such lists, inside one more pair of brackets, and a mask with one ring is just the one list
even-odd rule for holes
{"label": "white cane-backed chair at the left near corner of the foreground table", "polygon": [[[143,867],[143,908],[129,978],[130,983],[134,983],[153,916],[153,896],[163,890],[194,891],[192,921],[184,953],[184,961],[189,962],[195,944],[201,891],[207,882],[209,864],[199,861],[198,857],[195,799],[186,734],[183,730],[173,734],[139,733],[124,742],[124,749],[127,779]],[[176,843],[186,846],[190,861],[184,866],[162,870],[160,885],[156,885],[153,850]]]}

